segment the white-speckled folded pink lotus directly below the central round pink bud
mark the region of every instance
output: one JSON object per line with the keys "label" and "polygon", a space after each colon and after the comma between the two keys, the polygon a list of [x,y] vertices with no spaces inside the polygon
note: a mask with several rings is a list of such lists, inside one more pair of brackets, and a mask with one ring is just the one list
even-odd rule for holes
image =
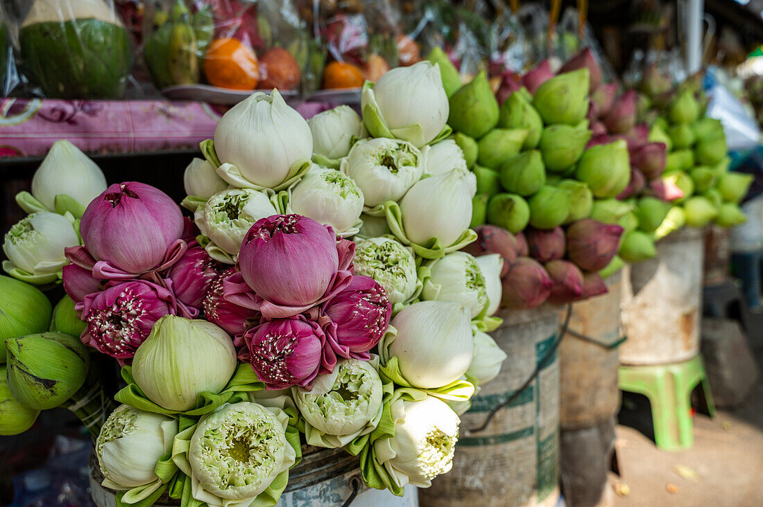
{"label": "white-speckled folded pink lotus directly below the central round pink bud", "polygon": [[269,390],[310,388],[317,374],[329,374],[336,365],[334,357],[330,369],[322,367],[326,335],[302,315],[262,322],[238,336],[234,345],[242,347],[239,359],[252,365]]}

